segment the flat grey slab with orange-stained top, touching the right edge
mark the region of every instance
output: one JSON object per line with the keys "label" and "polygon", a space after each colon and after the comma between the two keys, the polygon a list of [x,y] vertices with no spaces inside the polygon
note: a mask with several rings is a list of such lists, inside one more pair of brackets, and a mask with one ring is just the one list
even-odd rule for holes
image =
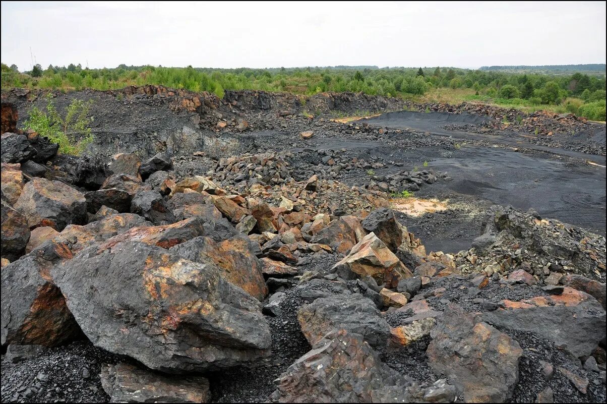
{"label": "flat grey slab with orange-stained top, touching the right edge", "polygon": [[605,338],[605,310],[591,295],[565,287],[561,295],[538,296],[520,302],[504,300],[503,309],[480,315],[501,329],[534,332],[554,341],[574,357],[591,355]]}

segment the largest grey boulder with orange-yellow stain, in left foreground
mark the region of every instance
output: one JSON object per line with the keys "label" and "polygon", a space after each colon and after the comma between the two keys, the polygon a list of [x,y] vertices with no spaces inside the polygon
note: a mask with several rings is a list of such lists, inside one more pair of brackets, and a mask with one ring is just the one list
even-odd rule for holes
{"label": "largest grey boulder with orange-yellow stain, in left foreground", "polygon": [[121,242],[90,247],[52,276],[93,344],[149,368],[205,371],[268,354],[261,304],[215,265]]}

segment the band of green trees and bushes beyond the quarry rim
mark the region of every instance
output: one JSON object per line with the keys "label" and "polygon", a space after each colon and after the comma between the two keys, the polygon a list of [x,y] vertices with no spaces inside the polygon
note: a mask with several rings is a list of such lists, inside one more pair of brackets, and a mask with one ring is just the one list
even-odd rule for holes
{"label": "band of green trees and bushes beyond the quarry rim", "polygon": [[2,63],[2,88],[73,91],[121,89],[143,84],[208,91],[218,97],[223,97],[225,90],[241,89],[302,95],[327,91],[364,92],[413,101],[479,101],[527,111],[548,109],[605,120],[605,74],[590,70],[572,74],[523,74],[450,67],[210,69],[124,64],[112,69],[87,69],[80,64],[70,64],[46,69],[36,65],[28,72],[19,72],[14,64]]}

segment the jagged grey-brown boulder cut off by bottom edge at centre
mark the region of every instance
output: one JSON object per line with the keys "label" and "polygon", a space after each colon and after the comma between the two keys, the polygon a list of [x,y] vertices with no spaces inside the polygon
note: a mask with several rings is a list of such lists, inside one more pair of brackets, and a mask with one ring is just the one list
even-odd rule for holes
{"label": "jagged grey-brown boulder cut off by bottom edge at centre", "polygon": [[[388,368],[360,335],[345,330],[314,344],[277,380],[280,403],[424,403],[455,400],[444,380],[427,389]],[[436,400],[436,398],[438,400]]]}

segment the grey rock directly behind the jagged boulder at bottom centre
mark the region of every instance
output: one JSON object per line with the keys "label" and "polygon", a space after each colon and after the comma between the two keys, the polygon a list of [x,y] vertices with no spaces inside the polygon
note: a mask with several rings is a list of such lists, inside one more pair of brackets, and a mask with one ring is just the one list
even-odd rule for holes
{"label": "grey rock directly behind the jagged boulder at bottom centre", "polygon": [[385,346],[390,337],[390,326],[375,304],[359,293],[318,298],[300,307],[297,320],[311,345],[339,329],[362,335],[374,347]]}

